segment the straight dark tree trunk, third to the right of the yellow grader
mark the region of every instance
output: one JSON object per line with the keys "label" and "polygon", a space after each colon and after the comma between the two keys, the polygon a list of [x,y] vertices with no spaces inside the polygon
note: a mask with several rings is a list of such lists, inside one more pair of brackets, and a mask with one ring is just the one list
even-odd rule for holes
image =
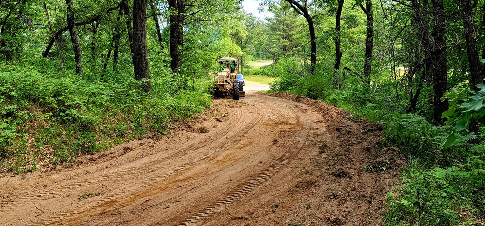
{"label": "straight dark tree trunk, third to the right of the yellow grader", "polygon": [[367,84],[371,84],[372,52],[374,50],[374,15],[372,12],[372,0],[365,1],[365,8],[360,4],[360,8],[367,15],[367,33],[365,40],[365,60],[364,72],[362,76]]}

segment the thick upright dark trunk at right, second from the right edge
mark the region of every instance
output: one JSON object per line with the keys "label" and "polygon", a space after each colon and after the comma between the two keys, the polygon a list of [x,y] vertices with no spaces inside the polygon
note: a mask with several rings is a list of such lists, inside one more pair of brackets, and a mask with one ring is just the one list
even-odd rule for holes
{"label": "thick upright dark trunk at right, second from the right edge", "polygon": [[431,0],[433,6],[433,32],[434,51],[432,52],[433,69],[433,121],[435,125],[444,125],[441,119],[443,112],[448,110],[448,101],[441,98],[448,89],[448,69],[446,61],[446,21],[444,17],[443,0]]}

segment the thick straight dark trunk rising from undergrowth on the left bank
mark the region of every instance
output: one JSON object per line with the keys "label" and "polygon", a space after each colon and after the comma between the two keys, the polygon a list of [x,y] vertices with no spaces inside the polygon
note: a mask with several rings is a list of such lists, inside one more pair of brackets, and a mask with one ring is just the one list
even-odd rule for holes
{"label": "thick straight dark trunk rising from undergrowth on the left bank", "polygon": [[[133,0],[133,66],[135,79],[150,79],[148,70],[148,50],[146,46],[146,0]],[[151,84],[147,81],[143,91],[149,92]]]}

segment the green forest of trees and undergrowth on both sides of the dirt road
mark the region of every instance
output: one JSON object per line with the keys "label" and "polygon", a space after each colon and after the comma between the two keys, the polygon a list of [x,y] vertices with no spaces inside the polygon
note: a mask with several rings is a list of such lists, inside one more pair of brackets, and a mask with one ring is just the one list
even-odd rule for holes
{"label": "green forest of trees and undergrowth on both sides of the dirt road", "polygon": [[0,173],[167,135],[229,56],[385,126],[407,166],[379,224],[484,224],[484,1],[242,1],[0,0]]}

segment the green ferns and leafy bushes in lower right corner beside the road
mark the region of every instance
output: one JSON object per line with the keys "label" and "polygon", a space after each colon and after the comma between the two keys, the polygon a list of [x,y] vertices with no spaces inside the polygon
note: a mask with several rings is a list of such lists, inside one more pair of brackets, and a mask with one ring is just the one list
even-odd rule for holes
{"label": "green ferns and leafy bushes in lower right corner beside the road", "polygon": [[472,224],[485,216],[485,146],[470,146],[475,136],[460,134],[443,148],[449,130],[416,115],[386,122],[385,143],[398,146],[410,161],[399,195],[388,193],[385,225]]}

